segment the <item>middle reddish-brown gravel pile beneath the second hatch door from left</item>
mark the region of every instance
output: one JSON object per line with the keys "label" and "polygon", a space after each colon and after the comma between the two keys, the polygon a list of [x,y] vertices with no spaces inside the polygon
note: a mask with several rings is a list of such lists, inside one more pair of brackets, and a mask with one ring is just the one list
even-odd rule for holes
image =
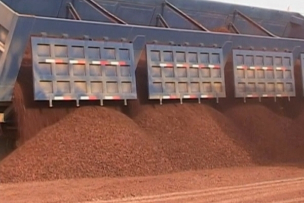
{"label": "middle reddish-brown gravel pile beneath the second hatch door from left", "polygon": [[233,123],[211,107],[143,106],[134,120],[162,147],[176,171],[252,164]]}

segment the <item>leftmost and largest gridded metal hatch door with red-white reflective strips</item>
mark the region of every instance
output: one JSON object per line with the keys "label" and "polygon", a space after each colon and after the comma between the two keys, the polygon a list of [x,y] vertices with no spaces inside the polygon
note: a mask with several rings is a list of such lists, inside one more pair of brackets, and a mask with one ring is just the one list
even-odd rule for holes
{"label": "leftmost and largest gridded metal hatch door with red-white reflective strips", "polygon": [[130,43],[31,38],[35,100],[136,99]]}

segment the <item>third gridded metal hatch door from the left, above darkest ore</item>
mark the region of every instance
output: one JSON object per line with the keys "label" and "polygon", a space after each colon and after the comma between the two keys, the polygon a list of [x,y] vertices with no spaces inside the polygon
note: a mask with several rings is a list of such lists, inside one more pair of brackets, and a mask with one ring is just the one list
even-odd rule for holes
{"label": "third gridded metal hatch door from the left, above darkest ore", "polygon": [[236,97],[295,96],[292,53],[233,50]]}

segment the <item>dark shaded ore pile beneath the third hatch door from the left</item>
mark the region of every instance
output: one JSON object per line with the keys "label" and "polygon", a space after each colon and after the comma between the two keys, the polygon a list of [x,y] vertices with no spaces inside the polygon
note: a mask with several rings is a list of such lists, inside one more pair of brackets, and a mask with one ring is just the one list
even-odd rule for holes
{"label": "dark shaded ore pile beneath the third hatch door from the left", "polygon": [[294,158],[290,142],[292,120],[260,104],[243,104],[224,112],[242,130],[242,141],[255,149],[262,162],[288,162]]}

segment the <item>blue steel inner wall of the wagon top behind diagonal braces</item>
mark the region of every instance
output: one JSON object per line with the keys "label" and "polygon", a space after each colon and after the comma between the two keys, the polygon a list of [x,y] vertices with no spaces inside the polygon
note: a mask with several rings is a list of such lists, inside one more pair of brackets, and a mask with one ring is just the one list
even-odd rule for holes
{"label": "blue steel inner wall of the wagon top behind diagonal braces", "polygon": [[[66,5],[71,2],[82,19],[110,22],[97,10],[80,0],[2,1],[19,13],[61,18],[66,17]],[[162,9],[163,0],[145,0],[144,3],[141,0],[95,0],[95,2],[129,24],[155,26],[157,25],[157,15],[162,14],[170,27],[195,29],[195,26],[188,23],[185,19],[178,16],[167,7]],[[169,2],[182,9],[184,13],[209,29],[226,26],[227,23],[233,21],[242,33],[264,35],[263,32],[239,16],[234,18],[234,11],[237,9],[277,36],[304,38],[301,35],[304,31],[304,25],[301,23],[304,20],[304,17],[298,13],[212,1],[170,0]]]}

